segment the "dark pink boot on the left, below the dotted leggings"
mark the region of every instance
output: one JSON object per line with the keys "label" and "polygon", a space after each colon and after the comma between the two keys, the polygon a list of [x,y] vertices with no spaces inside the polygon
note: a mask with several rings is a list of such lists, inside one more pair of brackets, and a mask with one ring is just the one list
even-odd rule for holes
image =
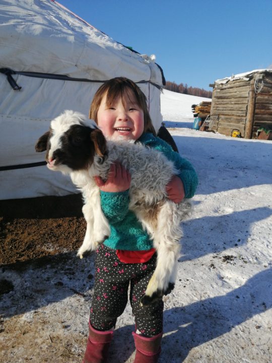
{"label": "dark pink boot on the left, below the dotted leggings", "polygon": [[99,331],[89,322],[89,337],[82,363],[106,363],[113,330]]}

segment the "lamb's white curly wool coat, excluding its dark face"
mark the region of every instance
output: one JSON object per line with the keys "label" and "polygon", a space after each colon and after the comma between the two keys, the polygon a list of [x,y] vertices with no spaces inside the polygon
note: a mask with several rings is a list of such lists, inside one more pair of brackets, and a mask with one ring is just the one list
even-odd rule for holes
{"label": "lamb's white curly wool coat, excluding its dark face", "polygon": [[[73,125],[84,125],[82,115],[73,111],[66,111],[52,121],[53,136],[47,144],[50,148],[49,155],[56,152],[57,148],[61,149],[61,143],[57,140],[60,140],[65,132],[73,134]],[[88,140],[92,142],[89,137]],[[81,258],[85,252],[95,251],[110,233],[108,221],[101,209],[100,190],[94,176],[100,175],[106,180],[110,165],[115,161],[120,161],[130,172],[129,209],[137,215],[148,231],[157,250],[157,267],[141,299],[142,304],[148,304],[154,298],[169,292],[174,286],[182,237],[180,221],[188,216],[191,205],[187,200],[175,204],[167,198],[165,187],[172,175],[177,174],[177,170],[173,162],[162,153],[127,141],[107,141],[106,146],[107,157],[103,159],[94,154],[92,164],[88,167],[73,170],[66,165],[63,169],[62,164],[57,164],[53,170],[69,170],[73,183],[83,194],[83,214],[87,221],[87,229],[78,251]],[[64,148],[61,152],[65,152]]]}

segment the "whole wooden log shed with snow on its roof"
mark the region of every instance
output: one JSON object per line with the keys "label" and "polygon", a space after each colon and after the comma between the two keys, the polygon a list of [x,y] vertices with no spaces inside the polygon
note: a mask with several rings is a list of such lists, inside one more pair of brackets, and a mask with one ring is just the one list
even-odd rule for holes
{"label": "whole wooden log shed with snow on its roof", "polygon": [[272,69],[255,70],[215,81],[211,129],[231,136],[238,129],[246,139],[255,139],[257,130],[272,133]]}

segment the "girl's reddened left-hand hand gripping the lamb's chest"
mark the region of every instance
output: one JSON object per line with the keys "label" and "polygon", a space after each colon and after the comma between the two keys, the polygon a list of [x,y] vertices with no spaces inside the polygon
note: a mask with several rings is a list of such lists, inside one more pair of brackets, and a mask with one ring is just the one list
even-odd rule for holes
{"label": "girl's reddened left-hand hand gripping the lamb's chest", "polygon": [[95,183],[103,192],[124,192],[130,187],[131,176],[119,162],[111,164],[108,179],[103,181],[100,176],[95,176]]}

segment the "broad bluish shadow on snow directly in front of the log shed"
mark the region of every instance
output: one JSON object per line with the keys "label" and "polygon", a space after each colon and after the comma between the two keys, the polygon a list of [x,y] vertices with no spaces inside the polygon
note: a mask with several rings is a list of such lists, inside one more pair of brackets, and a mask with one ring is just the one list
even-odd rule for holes
{"label": "broad bluish shadow on snow directly in front of the log shed", "polygon": [[272,143],[269,141],[201,136],[173,138],[180,155],[192,163],[198,174],[196,194],[208,195],[271,183]]}

